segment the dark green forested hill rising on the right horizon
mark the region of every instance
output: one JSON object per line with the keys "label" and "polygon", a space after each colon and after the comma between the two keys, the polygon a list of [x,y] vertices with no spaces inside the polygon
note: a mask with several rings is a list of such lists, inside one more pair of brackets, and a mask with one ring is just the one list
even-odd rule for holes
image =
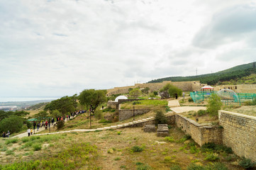
{"label": "dark green forested hill rising on the right horizon", "polygon": [[216,72],[213,74],[201,74],[191,77],[166,77],[162,79],[148,81],[148,83],[160,83],[162,81],[200,81],[203,84],[215,85],[230,80],[236,82],[243,77],[248,77],[251,74],[255,73],[255,62],[251,62],[248,64],[238,65],[230,69],[225,69],[221,72]]}

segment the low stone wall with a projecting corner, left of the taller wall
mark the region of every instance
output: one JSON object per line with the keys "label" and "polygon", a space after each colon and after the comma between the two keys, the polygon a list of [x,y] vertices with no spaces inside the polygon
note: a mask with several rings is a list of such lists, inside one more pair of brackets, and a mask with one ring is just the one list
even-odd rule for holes
{"label": "low stone wall with a projecting corner, left of the taller wall", "polygon": [[207,142],[222,144],[222,128],[204,126],[182,115],[175,115],[175,123],[178,128],[191,135],[191,138],[201,147]]}

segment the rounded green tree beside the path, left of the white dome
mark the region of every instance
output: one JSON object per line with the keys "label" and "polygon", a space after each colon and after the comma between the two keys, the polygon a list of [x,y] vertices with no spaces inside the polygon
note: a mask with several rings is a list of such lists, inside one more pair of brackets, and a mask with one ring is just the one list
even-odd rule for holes
{"label": "rounded green tree beside the path, left of the white dome", "polygon": [[106,102],[106,90],[84,90],[79,94],[78,100],[81,105],[90,108],[94,113],[99,105]]}

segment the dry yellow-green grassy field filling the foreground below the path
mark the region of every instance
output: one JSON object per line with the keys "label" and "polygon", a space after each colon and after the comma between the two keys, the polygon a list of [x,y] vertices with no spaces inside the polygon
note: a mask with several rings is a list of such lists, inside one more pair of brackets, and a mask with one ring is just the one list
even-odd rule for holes
{"label": "dry yellow-green grassy field filling the foreground below the path", "polygon": [[[237,157],[218,150],[202,150],[187,140],[184,132],[170,129],[170,137],[141,128],[125,128],[87,133],[67,133],[0,140],[0,163],[13,167],[37,169],[170,169],[189,164],[206,166],[222,162],[228,169]],[[16,162],[16,164],[13,164]],[[28,163],[24,163],[28,162]],[[35,168],[36,169],[36,168]]]}

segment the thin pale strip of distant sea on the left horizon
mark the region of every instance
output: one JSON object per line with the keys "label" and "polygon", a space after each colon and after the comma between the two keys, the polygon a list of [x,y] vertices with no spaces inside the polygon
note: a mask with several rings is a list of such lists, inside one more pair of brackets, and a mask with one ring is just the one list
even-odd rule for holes
{"label": "thin pale strip of distant sea on the left horizon", "polygon": [[61,97],[0,97],[0,102],[14,102],[14,101],[44,101],[56,100]]}

